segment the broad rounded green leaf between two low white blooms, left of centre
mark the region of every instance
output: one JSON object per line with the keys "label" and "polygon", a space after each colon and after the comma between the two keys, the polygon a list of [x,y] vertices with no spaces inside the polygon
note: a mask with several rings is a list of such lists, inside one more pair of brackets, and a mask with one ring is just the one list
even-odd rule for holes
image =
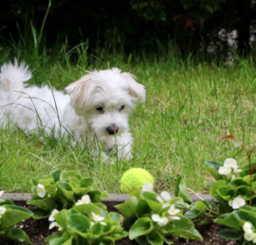
{"label": "broad rounded green leaf between two low white blooms, left of centre", "polygon": [[70,215],[67,218],[67,228],[70,228],[73,232],[82,235],[87,233],[87,230],[90,228],[90,220],[79,214]]}

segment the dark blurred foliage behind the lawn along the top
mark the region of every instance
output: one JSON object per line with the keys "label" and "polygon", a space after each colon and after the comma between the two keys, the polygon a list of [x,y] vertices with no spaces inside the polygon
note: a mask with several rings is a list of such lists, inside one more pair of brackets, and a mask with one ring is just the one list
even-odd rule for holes
{"label": "dark blurred foliage behind the lawn along the top", "polygon": [[[1,41],[19,42],[26,26],[40,30],[48,4],[1,1]],[[172,45],[182,55],[225,59],[254,52],[255,32],[255,0],[52,0],[43,40],[49,48],[56,40],[69,48],[87,42],[90,52],[122,49],[128,55]]]}

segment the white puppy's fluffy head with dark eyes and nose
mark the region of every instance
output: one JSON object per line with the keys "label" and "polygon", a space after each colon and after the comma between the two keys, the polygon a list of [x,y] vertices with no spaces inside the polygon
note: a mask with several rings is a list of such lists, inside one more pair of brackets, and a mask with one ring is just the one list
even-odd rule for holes
{"label": "white puppy's fluffy head with dark eyes and nose", "polygon": [[76,113],[83,115],[97,136],[128,131],[128,116],[146,99],[144,86],[118,68],[88,72],[65,88]]}

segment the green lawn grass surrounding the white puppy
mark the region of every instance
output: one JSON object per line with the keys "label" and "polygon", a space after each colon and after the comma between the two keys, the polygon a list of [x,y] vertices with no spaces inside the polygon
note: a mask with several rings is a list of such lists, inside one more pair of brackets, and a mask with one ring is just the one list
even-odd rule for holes
{"label": "green lawn grass surrounding the white puppy", "polygon": [[[210,175],[204,161],[223,163],[232,157],[246,163],[241,149],[228,140],[216,142],[221,134],[234,134],[246,145],[255,145],[256,69],[253,61],[239,60],[233,65],[181,60],[169,52],[159,59],[153,55],[124,55],[101,50],[96,56],[86,53],[86,44],[76,52],[76,59],[65,47],[49,51],[11,43],[0,46],[0,64],[14,55],[34,70],[30,84],[50,81],[57,89],[84,75],[85,70],[118,66],[132,71],[146,87],[147,101],[138,105],[130,117],[134,136],[134,159],[106,166],[87,148],[72,148],[64,141],[22,131],[0,129],[0,188],[9,192],[29,192],[29,180],[46,178],[55,168],[75,169],[93,176],[97,187],[108,193],[120,193],[119,180],[130,167],[143,167],[155,177],[156,191],[174,191],[174,181],[181,175],[188,186],[206,193]],[[71,57],[70,57],[71,56]],[[141,58],[141,59],[140,59]],[[252,157],[254,160],[255,157]]]}

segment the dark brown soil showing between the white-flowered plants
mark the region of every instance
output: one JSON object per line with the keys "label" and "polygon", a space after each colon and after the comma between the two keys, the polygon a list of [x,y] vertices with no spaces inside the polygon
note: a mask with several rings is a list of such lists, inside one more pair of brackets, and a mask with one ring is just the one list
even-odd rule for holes
{"label": "dark brown soil showing between the white-flowered plants", "polygon": [[[16,204],[21,204],[22,206],[27,205],[24,202],[16,202]],[[105,203],[108,207],[108,211],[116,211],[114,205],[117,203],[114,202],[107,202]],[[28,206],[29,209],[32,207]],[[44,242],[46,236],[52,235],[56,230],[49,231],[48,230],[49,222],[47,219],[27,219],[25,222],[21,222],[17,224],[17,227],[22,228],[29,236],[32,245],[46,245],[47,243]],[[174,244],[175,245],[234,245],[236,244],[235,241],[230,241],[223,239],[218,236],[218,232],[222,230],[224,226],[219,224],[213,223],[211,220],[208,224],[196,226],[198,232],[203,236],[203,241],[196,241],[196,240],[187,240],[183,238],[175,238]],[[11,243],[14,244],[14,243]],[[116,242],[117,245],[136,245],[136,241],[131,241],[129,238],[125,237]],[[10,243],[5,243],[0,241],[0,245],[10,245]]]}

